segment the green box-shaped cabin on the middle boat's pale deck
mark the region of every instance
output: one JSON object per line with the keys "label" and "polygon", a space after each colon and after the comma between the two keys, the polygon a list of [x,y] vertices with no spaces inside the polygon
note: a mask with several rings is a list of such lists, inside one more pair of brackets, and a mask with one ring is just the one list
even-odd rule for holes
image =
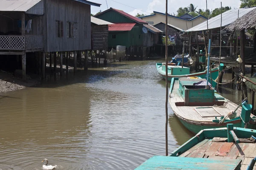
{"label": "green box-shaped cabin on the middle boat's pale deck", "polygon": [[184,99],[184,105],[197,105],[202,103],[215,102],[215,90],[206,85],[206,79],[188,79],[180,78],[179,80],[179,94]]}

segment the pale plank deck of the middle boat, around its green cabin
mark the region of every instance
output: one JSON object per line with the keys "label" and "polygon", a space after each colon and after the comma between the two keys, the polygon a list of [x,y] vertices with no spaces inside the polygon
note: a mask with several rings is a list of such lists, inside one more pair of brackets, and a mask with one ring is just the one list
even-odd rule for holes
{"label": "pale plank deck of the middle boat, around its green cabin", "polygon": [[[219,119],[221,116],[227,116],[230,111],[234,111],[238,105],[225,99],[219,94],[215,93],[215,101],[222,105],[209,105],[209,106],[184,106],[184,99],[178,93],[179,82],[175,81],[172,93],[170,94],[169,103],[174,113],[188,121],[194,122],[212,122]],[[224,105],[223,105],[224,104]],[[236,111],[237,116],[241,114],[241,107]],[[252,115],[253,116],[253,115]]]}

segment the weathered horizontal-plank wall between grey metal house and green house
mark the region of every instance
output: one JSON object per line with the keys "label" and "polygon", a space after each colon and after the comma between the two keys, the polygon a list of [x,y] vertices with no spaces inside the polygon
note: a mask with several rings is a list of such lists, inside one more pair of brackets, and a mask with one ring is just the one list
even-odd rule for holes
{"label": "weathered horizontal-plank wall between grey metal house and green house", "polygon": [[108,25],[96,25],[92,23],[92,49],[104,50],[108,48]]}

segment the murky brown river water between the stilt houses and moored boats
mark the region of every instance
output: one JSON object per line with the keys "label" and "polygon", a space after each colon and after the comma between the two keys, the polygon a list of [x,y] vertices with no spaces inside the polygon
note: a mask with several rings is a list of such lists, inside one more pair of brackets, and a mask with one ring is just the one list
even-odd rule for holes
{"label": "murky brown river water between the stilt houses and moored boats", "polygon": [[[116,62],[0,94],[0,170],[41,170],[45,158],[58,170],[132,170],[165,155],[165,81],[156,62]],[[229,87],[223,93],[240,98]],[[193,135],[168,112],[171,153]]]}

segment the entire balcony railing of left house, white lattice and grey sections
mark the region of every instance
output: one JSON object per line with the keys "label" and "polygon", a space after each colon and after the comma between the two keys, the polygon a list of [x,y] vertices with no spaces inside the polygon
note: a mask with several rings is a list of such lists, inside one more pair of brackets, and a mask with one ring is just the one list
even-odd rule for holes
{"label": "entire balcony railing of left house, white lattice and grey sections", "polygon": [[32,50],[44,48],[44,35],[0,35],[0,50]]}

